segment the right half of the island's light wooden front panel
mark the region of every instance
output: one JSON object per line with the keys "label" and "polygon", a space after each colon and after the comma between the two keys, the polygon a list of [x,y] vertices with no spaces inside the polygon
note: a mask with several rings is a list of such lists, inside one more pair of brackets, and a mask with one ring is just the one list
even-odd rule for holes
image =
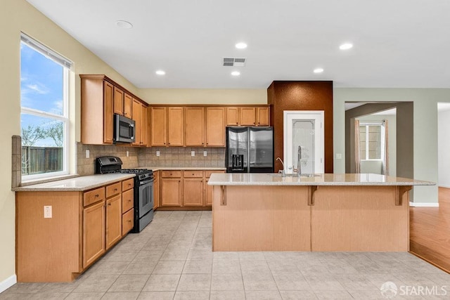
{"label": "right half of the island's light wooden front panel", "polygon": [[409,193],[395,186],[320,186],[311,207],[311,250],[409,251]]}

